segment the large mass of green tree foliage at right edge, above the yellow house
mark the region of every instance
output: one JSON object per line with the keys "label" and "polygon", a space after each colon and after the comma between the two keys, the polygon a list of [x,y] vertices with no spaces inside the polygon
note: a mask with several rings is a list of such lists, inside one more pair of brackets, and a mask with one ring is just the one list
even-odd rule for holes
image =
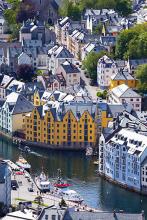
{"label": "large mass of green tree foliage at right edge, above the yellow house", "polygon": [[147,58],[147,23],[122,31],[117,38],[115,53],[119,59]]}

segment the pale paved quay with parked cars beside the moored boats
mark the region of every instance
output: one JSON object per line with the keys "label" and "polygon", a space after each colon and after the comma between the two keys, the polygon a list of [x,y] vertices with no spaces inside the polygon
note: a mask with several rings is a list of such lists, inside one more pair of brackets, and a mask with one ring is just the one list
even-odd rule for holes
{"label": "pale paved quay with parked cars beside the moored boats", "polygon": [[[35,198],[41,196],[43,199],[42,206],[58,206],[61,202],[61,197],[58,197],[57,194],[54,194],[53,191],[47,193],[40,193],[34,179],[27,172],[21,172],[19,174],[18,170],[20,169],[17,165],[15,165],[12,161],[7,160],[9,166],[13,170],[11,174],[11,180],[16,180],[18,183],[17,190],[11,190],[11,204],[17,206],[21,201],[29,201],[32,202],[32,207],[36,208],[38,204],[35,203]],[[28,181],[29,179],[29,181]],[[28,188],[33,188],[33,192],[29,192]],[[91,207],[88,207],[86,204],[77,204],[76,202],[65,201],[68,207],[76,207],[79,210],[87,210],[87,211],[98,211]]]}

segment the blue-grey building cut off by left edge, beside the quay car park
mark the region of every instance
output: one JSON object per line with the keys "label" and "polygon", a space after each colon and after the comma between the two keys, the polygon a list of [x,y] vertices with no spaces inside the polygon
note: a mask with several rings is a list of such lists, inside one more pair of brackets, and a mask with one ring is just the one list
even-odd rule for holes
{"label": "blue-grey building cut off by left edge, beside the quay car park", "polygon": [[11,205],[11,171],[4,161],[0,161],[0,202]]}

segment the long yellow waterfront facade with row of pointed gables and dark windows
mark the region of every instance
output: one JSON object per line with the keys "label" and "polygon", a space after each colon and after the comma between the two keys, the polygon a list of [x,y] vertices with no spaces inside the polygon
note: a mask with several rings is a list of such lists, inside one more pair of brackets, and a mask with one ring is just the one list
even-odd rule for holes
{"label": "long yellow waterfront facade with row of pointed gables and dark windows", "polygon": [[41,108],[42,106],[35,107],[32,113],[25,117],[26,140],[50,145],[96,144],[97,123],[88,111],[78,119],[71,110],[61,118],[52,110],[47,110],[42,117]]}

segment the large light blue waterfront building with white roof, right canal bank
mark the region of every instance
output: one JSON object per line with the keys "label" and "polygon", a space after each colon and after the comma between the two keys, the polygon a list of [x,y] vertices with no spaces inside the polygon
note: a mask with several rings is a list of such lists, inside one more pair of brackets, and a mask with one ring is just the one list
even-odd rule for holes
{"label": "large light blue waterfront building with white roof, right canal bank", "polygon": [[147,136],[128,128],[118,128],[107,138],[102,135],[99,145],[100,174],[141,191],[144,184],[142,172],[146,169],[143,165],[147,158],[146,143]]}

